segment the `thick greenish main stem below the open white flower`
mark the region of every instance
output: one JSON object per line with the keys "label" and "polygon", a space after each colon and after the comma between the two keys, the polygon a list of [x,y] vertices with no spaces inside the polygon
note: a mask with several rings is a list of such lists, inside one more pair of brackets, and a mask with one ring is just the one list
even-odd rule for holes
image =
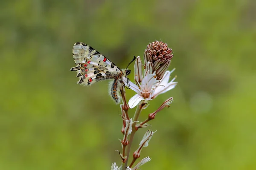
{"label": "thick greenish main stem below the open white flower", "polygon": [[134,113],[134,117],[133,117],[133,119],[132,119],[132,121],[133,121],[134,123],[131,125],[132,131],[131,131],[131,135],[130,135],[128,147],[126,147],[127,159],[126,159],[126,161],[123,162],[123,164],[122,164],[122,170],[125,170],[125,168],[127,167],[127,164],[128,164],[129,154],[130,154],[130,151],[131,151],[131,144],[132,144],[134,135],[135,135],[135,133],[136,133],[136,131],[137,131],[136,128],[135,128],[137,122],[135,122],[135,121],[137,121],[137,120],[139,119],[140,113],[141,113],[141,111],[142,111],[143,102],[144,102],[144,101],[141,101],[141,102],[139,103],[139,105],[137,105],[136,111],[135,111],[135,113]]}

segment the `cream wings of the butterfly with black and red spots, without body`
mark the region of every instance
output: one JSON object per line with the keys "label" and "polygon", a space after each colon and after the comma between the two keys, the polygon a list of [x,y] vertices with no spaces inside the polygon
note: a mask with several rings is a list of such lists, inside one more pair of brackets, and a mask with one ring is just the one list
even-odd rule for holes
{"label": "cream wings of the butterfly with black and red spots, without body", "polygon": [[91,85],[100,80],[115,79],[122,73],[113,62],[82,42],[74,44],[73,57],[76,67],[70,71],[77,72],[78,84]]}

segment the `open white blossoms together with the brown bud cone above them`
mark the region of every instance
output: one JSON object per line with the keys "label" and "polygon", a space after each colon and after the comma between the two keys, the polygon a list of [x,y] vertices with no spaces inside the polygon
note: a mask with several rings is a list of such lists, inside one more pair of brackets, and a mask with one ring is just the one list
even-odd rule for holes
{"label": "open white blossoms together with the brown bud cone above them", "polygon": [[123,78],[125,85],[137,93],[128,102],[130,108],[134,108],[142,100],[148,102],[159,94],[175,88],[176,77],[169,82],[170,75],[175,68],[172,71],[166,71],[173,57],[171,52],[172,49],[168,48],[167,44],[155,41],[149,44],[145,50],[145,65],[142,64],[140,57],[137,57],[134,65],[134,80],[137,85],[129,82],[126,77]]}

